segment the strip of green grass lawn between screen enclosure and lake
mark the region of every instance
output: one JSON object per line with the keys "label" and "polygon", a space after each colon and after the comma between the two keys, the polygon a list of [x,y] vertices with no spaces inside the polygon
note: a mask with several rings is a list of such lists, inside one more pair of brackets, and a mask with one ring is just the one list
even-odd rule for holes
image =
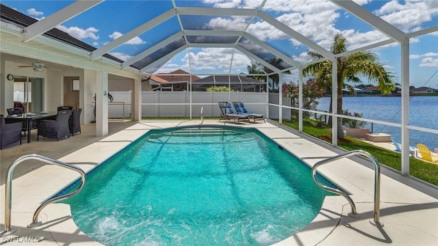
{"label": "strip of green grass lawn between screen enclosure and lake", "polygon": [[[290,122],[283,120],[285,126],[298,130],[298,122]],[[330,136],[331,131],[326,130],[330,126],[315,122],[313,120],[305,120],[303,122],[302,131],[313,137],[318,137],[324,141],[331,143],[331,139],[325,139],[323,136]],[[372,154],[379,163],[388,167],[394,168],[401,172],[402,155],[398,152],[387,150],[378,146],[374,146],[370,143],[365,143],[353,137],[346,136],[349,141],[338,141],[338,146],[345,150],[365,150]],[[411,176],[420,178],[430,184],[438,185],[438,165],[428,163],[420,159],[413,157],[409,160],[410,167],[409,172]]]}

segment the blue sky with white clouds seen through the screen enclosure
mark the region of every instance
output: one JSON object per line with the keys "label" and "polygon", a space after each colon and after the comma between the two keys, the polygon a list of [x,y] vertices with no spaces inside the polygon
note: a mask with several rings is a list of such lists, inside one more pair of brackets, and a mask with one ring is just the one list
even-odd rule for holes
{"label": "blue sky with white clouds seen through the screen enclosure", "polygon": [[[71,36],[99,48],[129,32],[143,23],[159,16],[174,7],[210,7],[210,8],[260,8],[263,0],[162,0],[162,1],[104,1],[94,8],[83,12],[62,23],[57,28]],[[404,33],[419,31],[438,25],[437,0],[355,0],[366,10],[376,14]],[[61,10],[72,1],[2,1],[38,20]],[[387,40],[381,31],[364,23],[352,14],[342,10],[326,0],[266,0],[261,7],[263,12],[301,33],[309,40],[329,50],[336,33],[342,33],[347,41],[347,49],[359,49],[368,44]],[[310,61],[309,47],[301,44],[283,31],[270,25],[262,18],[251,16],[190,16],[181,15],[184,29],[234,30],[246,31],[251,36],[266,42],[294,59],[300,64]],[[124,61],[151,48],[172,34],[181,31],[178,18],[168,18],[129,42],[110,51],[110,54]],[[194,40],[205,37],[192,37]],[[222,42],[227,40],[224,37]],[[231,38],[231,40],[233,40]],[[235,42],[234,40],[233,42]],[[269,54],[246,38],[238,40],[248,51],[254,51],[259,57]],[[177,45],[177,44],[175,44]],[[170,47],[166,47],[170,49]],[[173,49],[173,48],[172,48]],[[401,80],[401,46],[388,44],[372,49],[385,68],[394,74],[395,81]],[[190,55],[189,55],[190,54]],[[410,84],[415,87],[438,88],[438,31],[416,36],[410,39]],[[251,59],[230,48],[190,48],[181,51],[159,69],[150,72],[172,72],[183,69],[194,74],[238,74],[247,72],[246,66]],[[298,70],[291,70],[285,80],[297,81]],[[435,75],[434,75],[435,74]],[[367,84],[368,81],[363,81]]]}

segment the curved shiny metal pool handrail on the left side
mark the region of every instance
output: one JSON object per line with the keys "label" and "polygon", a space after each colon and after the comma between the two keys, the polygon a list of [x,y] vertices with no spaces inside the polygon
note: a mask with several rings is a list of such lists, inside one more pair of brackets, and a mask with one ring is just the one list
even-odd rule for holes
{"label": "curved shiny metal pool handrail on the left side", "polygon": [[39,154],[26,154],[26,155],[21,156],[20,158],[16,159],[16,161],[14,161],[14,163],[12,163],[9,166],[8,174],[6,176],[6,181],[5,181],[5,187],[6,187],[6,192],[5,192],[5,230],[3,232],[1,232],[1,236],[7,236],[10,234],[14,234],[14,232],[16,232],[16,229],[11,228],[12,174],[14,172],[14,169],[15,169],[16,165],[22,163],[23,161],[32,160],[32,159],[33,160],[40,160],[40,161],[43,161],[44,163],[48,163],[48,164],[60,165],[61,167],[66,167],[70,170],[78,172],[81,175],[81,184],[79,184],[79,187],[71,193],[61,195],[59,197],[53,197],[53,198],[47,200],[46,202],[42,203],[36,209],[36,211],[34,213],[34,217],[32,218],[32,223],[29,224],[29,226],[27,226],[28,228],[34,228],[34,227],[41,225],[42,222],[38,221],[38,215],[40,215],[42,208],[44,208],[45,206],[47,206],[49,204],[52,204],[53,202],[59,202],[59,201],[62,201],[64,199],[67,199],[68,197],[75,195],[76,193],[81,191],[83,184],[85,184],[85,178],[86,178],[85,172],[83,172],[83,170],[81,168],[76,167],[74,165],[63,163],[62,161],[56,161],[56,160],[50,159],[46,156],[40,156]]}

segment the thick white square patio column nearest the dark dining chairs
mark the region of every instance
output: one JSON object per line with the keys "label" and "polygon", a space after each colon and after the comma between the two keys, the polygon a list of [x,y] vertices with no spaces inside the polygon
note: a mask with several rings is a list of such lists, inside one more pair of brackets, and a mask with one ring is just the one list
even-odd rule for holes
{"label": "thick white square patio column nearest the dark dining chairs", "polygon": [[108,72],[96,71],[96,137],[108,135]]}

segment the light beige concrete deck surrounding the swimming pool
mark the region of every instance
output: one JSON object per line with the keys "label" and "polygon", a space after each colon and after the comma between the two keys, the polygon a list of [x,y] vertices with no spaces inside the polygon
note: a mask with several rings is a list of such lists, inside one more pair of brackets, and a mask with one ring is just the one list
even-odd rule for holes
{"label": "light beige concrete deck surrounding the swimming pool", "polygon": [[[143,120],[111,122],[110,134],[95,137],[94,124],[82,126],[82,133],[55,141],[40,139],[32,133],[32,142],[14,145],[0,152],[0,226],[4,230],[5,176],[8,166],[24,154],[41,154],[70,163],[88,172],[114,153],[152,128],[198,125],[199,120]],[[295,131],[286,131],[274,122],[266,124],[233,124],[205,120],[204,124],[255,127],[279,146],[292,152],[310,166],[342,153],[326,143],[315,141]],[[359,163],[358,163],[359,162]],[[382,169],[380,221],[370,224],[374,216],[374,169],[357,158],[341,159],[318,169],[321,174],[352,194],[359,219],[348,217],[350,205],[344,197],[329,196],[318,216],[301,232],[276,245],[438,245],[438,189]],[[17,232],[0,238],[5,245],[100,245],[83,234],[70,215],[66,204],[50,204],[40,213],[42,226],[27,228],[34,211],[48,197],[79,178],[76,172],[38,161],[25,161],[14,170],[12,190],[12,228]],[[41,238],[44,240],[38,242]]]}

